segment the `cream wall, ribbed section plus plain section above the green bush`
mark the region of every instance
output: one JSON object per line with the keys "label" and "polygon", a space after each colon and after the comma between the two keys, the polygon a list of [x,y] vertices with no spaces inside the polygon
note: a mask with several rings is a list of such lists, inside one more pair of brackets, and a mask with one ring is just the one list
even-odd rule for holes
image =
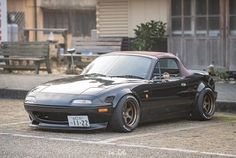
{"label": "cream wall, ribbed section plus plain section above the green bush", "polygon": [[134,37],[136,25],[169,13],[168,0],[97,0],[96,9],[99,37]]}

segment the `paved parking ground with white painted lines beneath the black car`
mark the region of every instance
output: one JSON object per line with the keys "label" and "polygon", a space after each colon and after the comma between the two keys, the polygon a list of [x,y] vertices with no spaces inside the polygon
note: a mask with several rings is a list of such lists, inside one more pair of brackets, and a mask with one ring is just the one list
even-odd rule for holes
{"label": "paved parking ground with white painted lines beneath the black car", "polygon": [[236,115],[170,120],[132,133],[31,129],[22,100],[0,99],[0,157],[236,157]]}

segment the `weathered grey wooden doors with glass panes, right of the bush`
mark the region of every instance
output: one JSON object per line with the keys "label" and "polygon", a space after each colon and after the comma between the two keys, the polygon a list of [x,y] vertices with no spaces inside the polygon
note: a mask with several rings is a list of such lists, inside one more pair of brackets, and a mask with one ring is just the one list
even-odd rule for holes
{"label": "weathered grey wooden doors with glass panes, right of the bush", "polygon": [[236,1],[171,0],[169,51],[187,67],[236,70]]}

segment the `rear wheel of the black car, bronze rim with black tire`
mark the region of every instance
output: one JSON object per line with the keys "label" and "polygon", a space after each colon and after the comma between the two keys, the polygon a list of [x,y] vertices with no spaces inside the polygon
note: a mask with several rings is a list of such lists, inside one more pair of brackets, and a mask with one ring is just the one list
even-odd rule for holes
{"label": "rear wheel of the black car, bronze rim with black tire", "polygon": [[215,98],[212,90],[206,88],[202,90],[196,99],[192,117],[196,120],[210,120],[215,113]]}

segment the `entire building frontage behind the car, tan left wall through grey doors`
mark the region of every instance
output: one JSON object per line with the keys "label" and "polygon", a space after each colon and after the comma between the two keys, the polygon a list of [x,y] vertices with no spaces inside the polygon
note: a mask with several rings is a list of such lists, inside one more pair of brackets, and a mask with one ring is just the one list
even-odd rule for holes
{"label": "entire building frontage behind the car, tan left wall through grey doors", "polygon": [[[7,0],[23,28],[67,28],[70,37],[134,37],[140,23],[167,23],[168,51],[192,69],[214,64],[236,71],[236,0]],[[47,40],[50,32],[31,33]],[[61,40],[60,35],[55,35]],[[70,38],[69,37],[69,38]],[[68,40],[71,41],[71,40]],[[71,46],[72,42],[68,43]]]}

